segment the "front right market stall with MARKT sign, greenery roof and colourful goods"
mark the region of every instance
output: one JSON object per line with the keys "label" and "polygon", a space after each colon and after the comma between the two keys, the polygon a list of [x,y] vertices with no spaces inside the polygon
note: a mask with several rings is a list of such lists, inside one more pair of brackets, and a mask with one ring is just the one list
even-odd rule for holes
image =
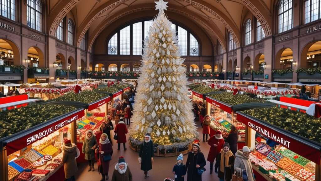
{"label": "front right market stall with MARKT sign, greenery roof and colourful goods", "polygon": [[[258,180],[320,180],[320,119],[278,108],[236,111]],[[313,130],[313,131],[311,131]]]}

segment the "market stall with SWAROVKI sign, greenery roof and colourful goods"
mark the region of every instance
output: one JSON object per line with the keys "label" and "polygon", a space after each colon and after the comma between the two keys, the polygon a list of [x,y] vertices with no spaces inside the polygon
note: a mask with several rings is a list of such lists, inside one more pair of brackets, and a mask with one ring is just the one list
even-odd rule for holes
{"label": "market stall with SWAROVKI sign, greenery roof and colourful goods", "polygon": [[76,120],[84,108],[32,104],[0,115],[0,179],[64,180],[61,148],[67,139],[76,142]]}

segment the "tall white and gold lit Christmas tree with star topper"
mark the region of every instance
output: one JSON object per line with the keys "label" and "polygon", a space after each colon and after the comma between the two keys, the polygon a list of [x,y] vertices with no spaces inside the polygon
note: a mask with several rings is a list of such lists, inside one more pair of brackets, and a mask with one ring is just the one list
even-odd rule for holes
{"label": "tall white and gold lit Christmas tree with star topper", "polygon": [[182,148],[198,136],[187,97],[186,68],[181,66],[178,37],[164,13],[168,2],[155,3],[159,13],[144,41],[130,141],[138,145],[150,133],[160,149]]}

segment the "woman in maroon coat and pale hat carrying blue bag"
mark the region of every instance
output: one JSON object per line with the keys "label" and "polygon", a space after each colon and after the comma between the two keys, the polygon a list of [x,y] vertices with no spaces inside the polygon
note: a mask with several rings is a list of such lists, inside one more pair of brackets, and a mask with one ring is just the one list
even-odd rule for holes
{"label": "woman in maroon coat and pale hat carrying blue bag", "polygon": [[110,158],[111,158],[113,154],[113,147],[111,146],[110,141],[108,139],[108,135],[106,133],[101,134],[99,139],[99,146],[98,146],[98,149],[96,150],[96,153],[99,154],[99,160],[97,162],[97,165],[98,165],[98,171],[102,176],[100,181],[108,180],[110,160],[104,160],[104,157],[108,157],[110,155]]}

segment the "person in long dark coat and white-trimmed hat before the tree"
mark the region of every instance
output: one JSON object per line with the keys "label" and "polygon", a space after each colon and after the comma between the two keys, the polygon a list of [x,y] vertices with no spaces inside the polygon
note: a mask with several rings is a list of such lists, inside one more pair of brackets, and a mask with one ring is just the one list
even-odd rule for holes
{"label": "person in long dark coat and white-trimmed hat before the tree", "polygon": [[149,177],[148,171],[152,169],[154,162],[154,146],[151,135],[146,133],[145,140],[141,144],[138,160],[141,162],[141,170],[144,171],[144,178]]}

